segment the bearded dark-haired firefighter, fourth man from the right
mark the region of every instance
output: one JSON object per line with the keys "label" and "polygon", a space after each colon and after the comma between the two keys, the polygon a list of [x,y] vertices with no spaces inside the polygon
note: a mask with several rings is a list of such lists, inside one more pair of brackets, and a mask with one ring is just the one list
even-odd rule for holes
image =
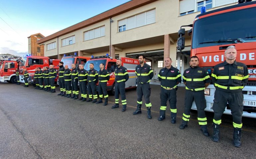
{"label": "bearded dark-haired firefighter, fourth man from the right", "polygon": [[151,67],[145,62],[145,55],[139,55],[139,65],[135,68],[135,74],[137,76],[137,109],[133,112],[133,115],[141,114],[142,96],[144,95],[145,105],[147,107],[148,119],[152,119],[151,106],[149,97],[151,94],[151,88],[149,85],[150,79],[153,78],[154,73]]}

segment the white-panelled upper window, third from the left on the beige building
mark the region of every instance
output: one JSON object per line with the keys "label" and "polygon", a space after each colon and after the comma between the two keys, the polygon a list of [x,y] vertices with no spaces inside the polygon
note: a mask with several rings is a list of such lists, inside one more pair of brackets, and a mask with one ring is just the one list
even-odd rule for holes
{"label": "white-panelled upper window, third from the left on the beige building", "polygon": [[83,40],[95,39],[105,36],[105,26],[101,26],[92,30],[85,31],[83,33]]}

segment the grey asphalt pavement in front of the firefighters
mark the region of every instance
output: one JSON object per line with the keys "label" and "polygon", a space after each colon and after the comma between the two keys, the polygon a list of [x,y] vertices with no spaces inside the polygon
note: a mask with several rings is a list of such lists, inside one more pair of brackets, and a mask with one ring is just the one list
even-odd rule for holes
{"label": "grey asphalt pavement in front of the firefighters", "polygon": [[[242,146],[232,144],[232,116],[223,115],[220,141],[203,136],[196,111],[184,130],[179,129],[185,89],[177,91],[177,123],[158,121],[160,86],[151,85],[152,119],[136,109],[136,89],[126,91],[127,110],[81,102],[7,82],[0,83],[0,159],[19,158],[255,158],[256,119],[243,117]],[[79,94],[80,95],[80,94]],[[206,113],[212,135],[213,113]]]}

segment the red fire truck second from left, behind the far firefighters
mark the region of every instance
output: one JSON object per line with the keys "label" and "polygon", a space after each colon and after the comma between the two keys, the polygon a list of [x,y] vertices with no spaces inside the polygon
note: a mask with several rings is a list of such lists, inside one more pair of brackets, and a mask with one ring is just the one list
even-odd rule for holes
{"label": "red fire truck second from left, behind the far firefighters", "polygon": [[50,59],[49,57],[30,56],[29,54],[26,56],[24,55],[20,64],[20,82],[24,83],[24,68],[27,69],[27,72],[29,73],[29,82],[31,82],[33,80],[36,68],[41,67],[43,69],[45,66],[49,67],[50,65],[54,65],[54,68],[58,69],[60,61],[61,60]]}

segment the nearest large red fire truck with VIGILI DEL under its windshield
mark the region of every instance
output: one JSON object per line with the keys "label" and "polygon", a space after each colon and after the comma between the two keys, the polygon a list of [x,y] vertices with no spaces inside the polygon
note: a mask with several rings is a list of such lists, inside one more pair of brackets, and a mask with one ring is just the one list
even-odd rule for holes
{"label": "nearest large red fire truck with VIGILI DEL under its windshield", "polygon": [[[199,66],[211,75],[213,67],[224,62],[224,51],[230,45],[237,50],[236,61],[248,67],[249,80],[243,88],[243,116],[256,118],[256,2],[241,3],[197,15],[188,31],[192,34],[191,56],[199,58]],[[185,47],[185,26],[179,30],[178,50]],[[215,87],[205,89],[206,108],[211,111]],[[196,110],[195,103],[192,109]],[[231,114],[227,103],[225,114]]]}

